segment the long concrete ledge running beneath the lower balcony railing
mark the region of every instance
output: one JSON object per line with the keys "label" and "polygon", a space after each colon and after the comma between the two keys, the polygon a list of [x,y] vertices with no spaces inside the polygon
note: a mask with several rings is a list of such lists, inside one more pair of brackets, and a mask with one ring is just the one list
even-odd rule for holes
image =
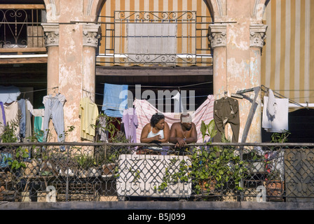
{"label": "long concrete ledge running beneath the lower balcony railing", "polygon": [[314,202],[0,202],[0,210],[313,210]]}

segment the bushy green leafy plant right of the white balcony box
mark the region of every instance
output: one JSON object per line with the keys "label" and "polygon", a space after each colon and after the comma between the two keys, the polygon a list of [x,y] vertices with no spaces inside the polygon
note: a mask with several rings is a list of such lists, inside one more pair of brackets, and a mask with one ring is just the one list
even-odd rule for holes
{"label": "bushy green leafy plant right of the white balcony box", "polygon": [[[217,134],[214,129],[214,120],[209,124],[202,122],[201,132],[203,139],[210,136],[206,146],[196,147],[191,155],[193,176],[193,186],[196,194],[211,195],[217,190],[226,189],[228,183],[234,183],[236,190],[243,190],[240,181],[245,177],[247,166],[240,160],[240,156],[235,153],[233,146],[212,146],[212,138]],[[226,137],[222,137],[222,142],[228,142]]]}

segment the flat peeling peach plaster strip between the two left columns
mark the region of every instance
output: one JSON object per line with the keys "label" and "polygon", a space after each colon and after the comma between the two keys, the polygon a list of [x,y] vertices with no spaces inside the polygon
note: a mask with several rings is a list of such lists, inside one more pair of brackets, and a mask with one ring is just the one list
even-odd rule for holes
{"label": "flat peeling peach plaster strip between the two left columns", "polygon": [[[60,66],[59,90],[67,99],[64,104],[64,128],[73,125],[79,130],[81,126],[78,118],[79,102],[82,92],[82,26],[60,25]],[[79,141],[78,130],[69,134],[71,141]]]}

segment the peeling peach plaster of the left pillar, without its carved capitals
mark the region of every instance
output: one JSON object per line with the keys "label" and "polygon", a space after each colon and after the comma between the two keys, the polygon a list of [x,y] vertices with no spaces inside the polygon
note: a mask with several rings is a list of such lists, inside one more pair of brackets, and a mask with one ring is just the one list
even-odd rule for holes
{"label": "peeling peach plaster of the left pillar, without its carved capitals", "polygon": [[[95,48],[83,46],[83,22],[93,21],[95,15],[87,15],[88,7],[98,1],[48,0],[46,8],[48,22],[59,24],[59,45],[48,48],[48,88],[58,86],[60,94],[66,98],[64,104],[64,130],[74,126],[65,141],[81,141],[81,119],[78,116],[83,89],[95,92]],[[76,21],[76,23],[73,23]],[[50,90],[50,93],[55,93]],[[95,95],[90,95],[95,99]],[[53,123],[50,120],[50,141],[57,141]]]}

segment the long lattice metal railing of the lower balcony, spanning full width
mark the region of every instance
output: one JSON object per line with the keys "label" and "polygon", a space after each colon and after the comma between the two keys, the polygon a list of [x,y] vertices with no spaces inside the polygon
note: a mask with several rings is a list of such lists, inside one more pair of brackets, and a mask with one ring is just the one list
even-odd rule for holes
{"label": "long lattice metal railing of the lower balcony, spanning full width", "polygon": [[0,200],[314,200],[313,144],[145,146],[0,144]]}

